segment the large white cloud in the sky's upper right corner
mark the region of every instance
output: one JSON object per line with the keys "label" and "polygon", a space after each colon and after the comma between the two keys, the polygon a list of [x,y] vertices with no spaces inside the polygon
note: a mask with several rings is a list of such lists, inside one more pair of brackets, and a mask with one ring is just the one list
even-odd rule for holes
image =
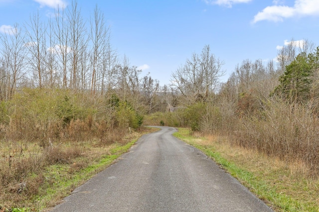
{"label": "large white cloud in the sky's upper right corner", "polygon": [[[273,1],[274,4],[281,3],[281,1]],[[318,0],[295,0],[293,7],[285,5],[267,6],[261,12],[254,16],[253,23],[262,20],[269,21],[283,21],[284,18],[294,16],[319,15]]]}

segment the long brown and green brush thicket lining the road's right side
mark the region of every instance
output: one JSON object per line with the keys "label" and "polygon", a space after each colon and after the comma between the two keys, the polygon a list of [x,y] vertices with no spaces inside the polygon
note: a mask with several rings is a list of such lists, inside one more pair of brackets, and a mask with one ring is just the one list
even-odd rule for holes
{"label": "long brown and green brush thicket lining the road's right side", "polygon": [[284,160],[303,161],[310,176],[319,174],[319,117],[307,106],[270,99],[254,115],[242,116],[221,105],[198,103],[153,114],[146,123],[160,125],[161,121],[166,126],[228,136],[234,145]]}

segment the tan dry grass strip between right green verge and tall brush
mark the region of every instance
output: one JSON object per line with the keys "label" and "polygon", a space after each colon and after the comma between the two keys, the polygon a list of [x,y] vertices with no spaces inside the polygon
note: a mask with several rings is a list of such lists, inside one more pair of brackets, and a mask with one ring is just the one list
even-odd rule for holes
{"label": "tan dry grass strip between right green verge and tall brush", "polygon": [[300,159],[284,160],[264,152],[232,144],[226,137],[195,133],[192,141],[211,146],[223,158],[248,170],[275,189],[305,204],[316,203],[319,208],[319,179],[309,176],[309,165]]}

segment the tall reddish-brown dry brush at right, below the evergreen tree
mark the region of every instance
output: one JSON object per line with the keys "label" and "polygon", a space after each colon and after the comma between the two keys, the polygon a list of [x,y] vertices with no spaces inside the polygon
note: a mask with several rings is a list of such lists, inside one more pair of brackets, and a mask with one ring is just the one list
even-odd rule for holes
{"label": "tall reddish-brown dry brush at right, below the evergreen tree", "polygon": [[297,163],[296,172],[319,176],[319,116],[311,105],[268,99],[247,114],[235,108],[207,105],[200,131],[227,136],[234,146]]}

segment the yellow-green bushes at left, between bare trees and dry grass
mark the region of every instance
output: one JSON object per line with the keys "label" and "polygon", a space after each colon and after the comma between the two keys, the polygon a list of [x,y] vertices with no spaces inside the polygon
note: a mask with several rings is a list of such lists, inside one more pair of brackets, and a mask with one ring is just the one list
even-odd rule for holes
{"label": "yellow-green bushes at left, between bare trees and dry grass", "polygon": [[[9,101],[0,103],[2,139],[46,142],[100,138],[99,128],[137,129],[143,117],[116,94],[116,104],[99,101],[68,90],[25,88]],[[89,96],[89,94],[88,94]],[[90,135],[89,135],[90,134]]]}

